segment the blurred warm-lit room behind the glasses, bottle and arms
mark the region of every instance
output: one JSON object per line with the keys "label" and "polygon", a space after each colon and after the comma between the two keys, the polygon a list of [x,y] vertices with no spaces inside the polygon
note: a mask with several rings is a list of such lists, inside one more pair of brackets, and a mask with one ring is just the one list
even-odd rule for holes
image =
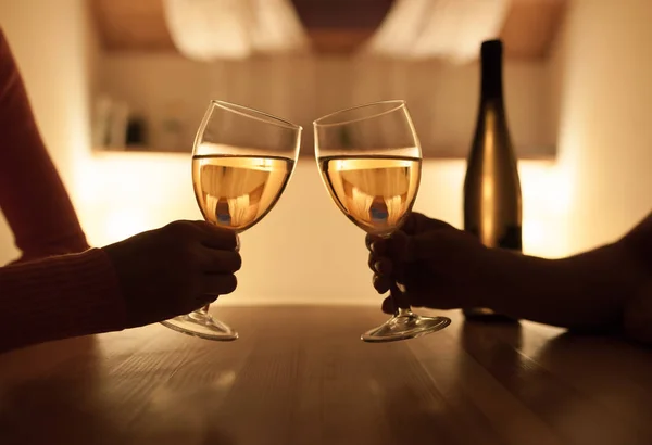
{"label": "blurred warm-lit room behind the glasses, bottle and arms", "polygon": [[[211,99],[304,127],[286,193],[242,236],[230,305],[379,302],[364,234],[313,156],[312,120],[338,109],[406,99],[425,156],[415,209],[461,227],[488,38],[505,47],[524,251],[615,240],[652,207],[650,23],[649,0],[0,0],[93,245],[201,218],[190,150]],[[2,220],[0,262],[16,255]]]}

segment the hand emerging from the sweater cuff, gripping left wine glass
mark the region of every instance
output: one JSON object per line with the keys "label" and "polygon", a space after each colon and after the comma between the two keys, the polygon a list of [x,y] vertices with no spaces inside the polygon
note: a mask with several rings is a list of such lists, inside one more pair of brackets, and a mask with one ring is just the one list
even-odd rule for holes
{"label": "hand emerging from the sweater cuff, gripping left wine glass", "polygon": [[175,221],[102,247],[127,308],[127,327],[188,314],[233,292],[237,234],[205,221]]}

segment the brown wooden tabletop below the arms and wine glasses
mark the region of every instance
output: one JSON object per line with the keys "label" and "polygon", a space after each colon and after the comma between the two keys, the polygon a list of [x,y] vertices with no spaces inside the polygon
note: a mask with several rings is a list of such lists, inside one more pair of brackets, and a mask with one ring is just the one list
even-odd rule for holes
{"label": "brown wooden tabletop below the arms and wine glasses", "polygon": [[0,356],[0,444],[652,444],[652,353],[453,315],[366,344],[369,307],[223,308],[241,339],[154,325]]}

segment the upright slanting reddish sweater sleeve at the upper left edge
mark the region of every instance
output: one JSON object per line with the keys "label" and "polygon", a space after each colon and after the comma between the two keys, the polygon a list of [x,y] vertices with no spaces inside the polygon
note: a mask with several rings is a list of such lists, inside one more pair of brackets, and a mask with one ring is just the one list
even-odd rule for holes
{"label": "upright slanting reddish sweater sleeve at the upper left edge", "polygon": [[24,260],[88,249],[68,194],[41,140],[2,29],[0,208]]}

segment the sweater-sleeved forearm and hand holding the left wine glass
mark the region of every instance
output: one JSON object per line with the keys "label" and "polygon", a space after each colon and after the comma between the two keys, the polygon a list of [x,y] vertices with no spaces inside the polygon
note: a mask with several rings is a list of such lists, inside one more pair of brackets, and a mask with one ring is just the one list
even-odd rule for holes
{"label": "sweater-sleeved forearm and hand holding the left wine glass", "polygon": [[236,289],[236,234],[175,221],[102,249],[0,267],[0,353],[190,313]]}

